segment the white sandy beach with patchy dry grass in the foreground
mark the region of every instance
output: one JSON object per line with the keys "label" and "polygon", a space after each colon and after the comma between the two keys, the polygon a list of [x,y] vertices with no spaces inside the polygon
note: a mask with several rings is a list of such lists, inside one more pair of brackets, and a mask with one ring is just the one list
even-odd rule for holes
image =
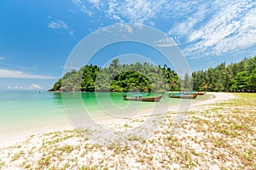
{"label": "white sandy beach with patchy dry grass in the foreground", "polygon": [[[253,169],[256,95],[212,94],[216,97],[193,102],[181,114],[138,116],[108,123],[107,131],[88,128],[30,136],[0,148],[0,168]],[[140,126],[150,118],[153,126]]]}

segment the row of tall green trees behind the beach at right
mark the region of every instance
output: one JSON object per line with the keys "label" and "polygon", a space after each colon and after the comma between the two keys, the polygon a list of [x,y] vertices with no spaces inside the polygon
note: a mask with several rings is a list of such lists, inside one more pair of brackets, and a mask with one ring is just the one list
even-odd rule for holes
{"label": "row of tall green trees behind the beach at right", "polygon": [[194,90],[256,92],[256,56],[192,73]]}

